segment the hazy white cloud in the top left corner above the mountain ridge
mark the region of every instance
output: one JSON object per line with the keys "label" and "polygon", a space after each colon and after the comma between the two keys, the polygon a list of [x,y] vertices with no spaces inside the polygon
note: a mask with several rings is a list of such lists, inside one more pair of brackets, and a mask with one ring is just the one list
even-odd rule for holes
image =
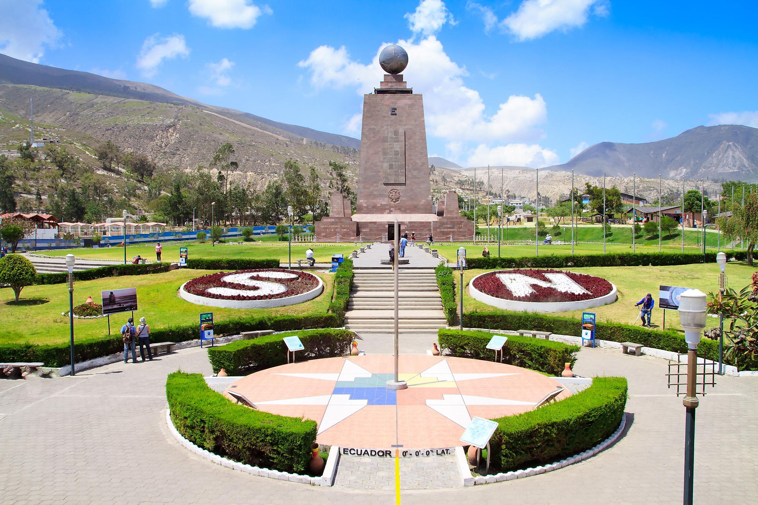
{"label": "hazy white cloud in the top left corner above the mountain ridge", "polygon": [[55,47],[61,30],[53,24],[42,0],[0,0],[0,52],[39,63],[45,47]]}

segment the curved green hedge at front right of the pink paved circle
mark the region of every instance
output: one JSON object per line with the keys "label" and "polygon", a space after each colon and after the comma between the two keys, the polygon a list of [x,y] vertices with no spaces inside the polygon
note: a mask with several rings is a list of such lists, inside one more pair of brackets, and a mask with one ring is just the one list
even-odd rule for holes
{"label": "curved green hedge at front right of the pink paved circle", "polygon": [[[509,338],[510,341],[510,338]],[[623,377],[596,377],[565,400],[494,419],[492,461],[503,472],[553,463],[590,449],[619,427],[627,399]]]}

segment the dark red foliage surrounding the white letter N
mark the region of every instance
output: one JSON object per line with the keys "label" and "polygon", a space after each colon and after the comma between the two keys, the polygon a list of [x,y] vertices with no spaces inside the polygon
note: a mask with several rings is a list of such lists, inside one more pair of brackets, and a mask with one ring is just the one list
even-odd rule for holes
{"label": "dark red foliage surrounding the white letter N", "polygon": [[[522,275],[539,279],[544,282],[551,282],[545,273],[565,273],[569,279],[572,279],[582,288],[589,291],[589,293],[582,293],[581,295],[574,295],[572,293],[564,293],[558,291],[556,288],[544,288],[539,285],[531,285],[534,292],[527,296],[515,296],[509,288],[503,284],[496,274],[497,273],[521,273]],[[478,277],[474,281],[474,287],[485,295],[490,295],[496,298],[503,298],[503,300],[515,300],[515,301],[536,301],[536,302],[551,302],[551,301],[577,301],[577,300],[590,300],[592,298],[598,298],[603,295],[607,295],[611,292],[613,286],[606,279],[600,277],[587,276],[584,273],[565,272],[564,270],[535,270],[535,269],[515,269],[515,270],[498,270],[496,272],[486,273],[481,277]]]}

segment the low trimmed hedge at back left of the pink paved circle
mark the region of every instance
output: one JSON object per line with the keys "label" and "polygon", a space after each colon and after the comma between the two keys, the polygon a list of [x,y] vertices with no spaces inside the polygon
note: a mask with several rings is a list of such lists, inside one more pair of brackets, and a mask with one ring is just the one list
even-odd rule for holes
{"label": "low trimmed hedge at back left of the pink paved circle", "polygon": [[238,340],[208,348],[213,373],[223,368],[230,376],[242,376],[283,365],[287,363],[287,346],[283,338],[291,335],[299,336],[305,347],[305,351],[297,355],[298,360],[345,356],[349,354],[350,342],[355,338],[346,329],[312,329]]}

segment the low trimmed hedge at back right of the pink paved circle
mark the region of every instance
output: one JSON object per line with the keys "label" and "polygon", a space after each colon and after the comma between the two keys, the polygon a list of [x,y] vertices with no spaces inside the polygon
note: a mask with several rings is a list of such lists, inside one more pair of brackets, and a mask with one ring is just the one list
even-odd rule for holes
{"label": "low trimmed hedge at back right of the pink paved circle", "polygon": [[[440,329],[437,333],[440,348],[449,351],[453,356],[490,361],[495,358],[495,351],[490,351],[486,347],[487,342],[492,338],[490,332]],[[578,345],[508,335],[508,341],[503,344],[503,361],[509,365],[559,376],[565,363],[571,363],[571,366],[574,366],[578,352]]]}

